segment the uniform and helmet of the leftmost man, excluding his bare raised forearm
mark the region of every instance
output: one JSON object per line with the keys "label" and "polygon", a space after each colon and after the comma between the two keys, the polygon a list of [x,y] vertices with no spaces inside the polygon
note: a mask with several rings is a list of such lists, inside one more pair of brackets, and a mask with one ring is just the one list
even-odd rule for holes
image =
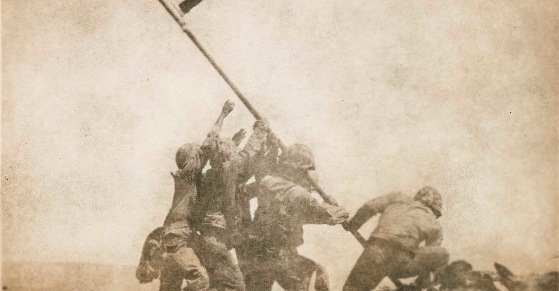
{"label": "uniform and helmet of the leftmost man, excluding his bare raised forearm", "polygon": [[167,256],[163,261],[159,278],[160,291],[208,290],[210,280],[206,268],[201,264],[195,247],[197,233],[195,225],[195,205],[198,192],[204,187],[202,169],[207,164],[209,154],[215,150],[216,131],[208,134],[202,146],[187,144],[178,150],[176,161],[179,170],[172,173],[174,179],[173,203],[163,223],[163,245]]}

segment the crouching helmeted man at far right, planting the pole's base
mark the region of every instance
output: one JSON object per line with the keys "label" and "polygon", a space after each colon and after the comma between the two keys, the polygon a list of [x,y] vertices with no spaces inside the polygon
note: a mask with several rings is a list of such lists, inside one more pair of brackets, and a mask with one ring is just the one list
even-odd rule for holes
{"label": "crouching helmeted man at far right, planting the pole's base", "polygon": [[[357,260],[345,282],[344,291],[375,289],[385,276],[396,285],[398,278],[417,276],[416,287],[429,284],[430,271],[448,263],[448,252],[440,244],[442,198],[432,187],[424,187],[414,198],[399,192],[389,193],[365,203],[345,230],[358,230],[377,213],[382,213],[368,246]],[[419,247],[425,241],[425,247]]]}

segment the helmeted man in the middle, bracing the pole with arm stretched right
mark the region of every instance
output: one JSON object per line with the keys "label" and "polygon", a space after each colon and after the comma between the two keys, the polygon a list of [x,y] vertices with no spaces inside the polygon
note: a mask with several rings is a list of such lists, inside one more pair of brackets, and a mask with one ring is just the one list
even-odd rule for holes
{"label": "helmeted man in the middle, bracing the pole with arm stretched right", "polygon": [[310,149],[301,144],[287,148],[271,175],[260,181],[258,209],[250,245],[251,268],[245,275],[247,290],[271,290],[277,282],[287,291],[308,290],[314,271],[316,290],[328,290],[322,266],[299,255],[305,224],[336,225],[348,218],[344,209],[311,196],[309,170],[314,170]]}

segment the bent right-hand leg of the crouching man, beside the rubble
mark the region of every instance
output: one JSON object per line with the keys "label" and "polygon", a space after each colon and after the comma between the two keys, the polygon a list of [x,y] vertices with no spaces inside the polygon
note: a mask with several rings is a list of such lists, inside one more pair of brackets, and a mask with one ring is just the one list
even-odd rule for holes
{"label": "bent right-hand leg of the crouching man, beside the rubble", "polygon": [[390,274],[392,278],[410,278],[419,276],[415,280],[418,287],[428,287],[430,273],[447,265],[449,254],[444,247],[420,247],[413,259],[406,259]]}

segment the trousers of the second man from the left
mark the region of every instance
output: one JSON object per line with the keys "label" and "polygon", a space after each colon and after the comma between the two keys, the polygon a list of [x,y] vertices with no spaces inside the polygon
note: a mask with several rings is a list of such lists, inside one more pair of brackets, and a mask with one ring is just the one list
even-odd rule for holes
{"label": "trousers of the second man from the left", "polygon": [[211,286],[218,291],[244,291],[243,275],[229,252],[224,230],[203,230],[201,238],[200,251],[210,275]]}

